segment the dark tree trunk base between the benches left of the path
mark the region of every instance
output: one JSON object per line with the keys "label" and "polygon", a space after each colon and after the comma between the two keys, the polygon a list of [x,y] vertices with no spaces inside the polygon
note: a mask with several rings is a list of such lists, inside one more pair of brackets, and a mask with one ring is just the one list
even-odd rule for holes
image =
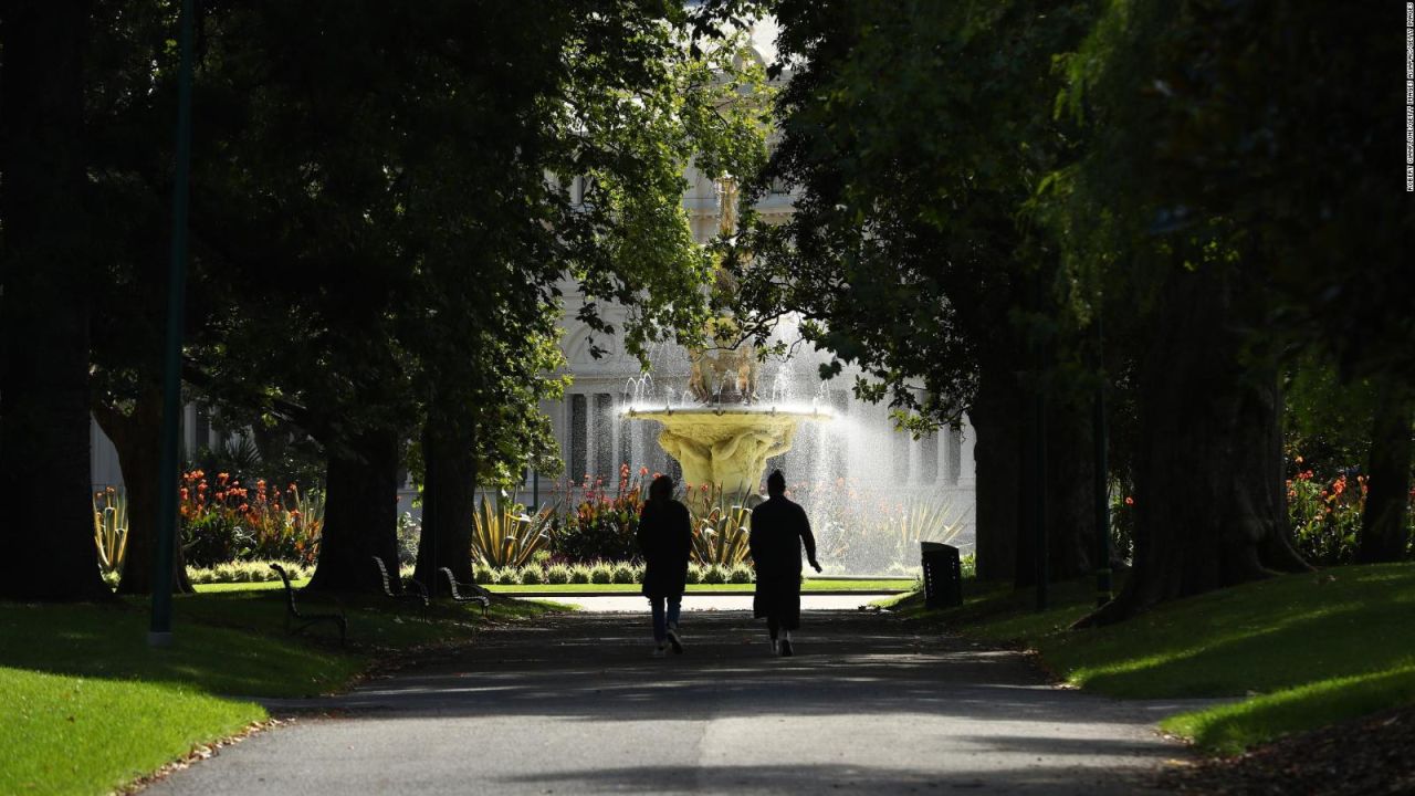
{"label": "dark tree trunk base between the benches left of the path", "polygon": [[398,446],[389,431],[372,431],[325,446],[330,457],[320,561],[311,591],[376,592],[383,559],[393,589],[398,578]]}

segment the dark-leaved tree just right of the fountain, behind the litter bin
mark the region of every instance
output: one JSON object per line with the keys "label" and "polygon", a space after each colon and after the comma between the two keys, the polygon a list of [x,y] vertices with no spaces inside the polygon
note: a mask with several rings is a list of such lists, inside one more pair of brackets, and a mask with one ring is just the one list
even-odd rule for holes
{"label": "dark-leaved tree just right of the fountain, behind the litter bin", "polygon": [[[1034,572],[1019,489],[1043,489],[1024,483],[1023,450],[1037,433],[1024,406],[1033,391],[1060,398],[1064,387],[1030,351],[1056,347],[1063,330],[1047,309],[1057,256],[1024,210],[1074,146],[1039,99],[1053,91],[1051,55],[1078,38],[1085,10],[775,6],[780,58],[794,71],[770,177],[795,183],[799,197],[787,225],[757,229],[747,295],[767,314],[799,312],[805,337],[835,353],[831,370],[853,363],[865,374],[856,392],[889,397],[916,429],[968,414],[979,574],[1019,585]],[[1063,456],[1088,433],[1051,425]],[[1090,568],[1094,523],[1065,494],[1087,489],[1073,479],[1047,490],[1063,510],[1047,521],[1060,576]]]}

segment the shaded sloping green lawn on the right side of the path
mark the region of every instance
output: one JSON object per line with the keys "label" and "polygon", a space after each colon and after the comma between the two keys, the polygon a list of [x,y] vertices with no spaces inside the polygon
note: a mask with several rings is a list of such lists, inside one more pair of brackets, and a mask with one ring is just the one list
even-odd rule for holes
{"label": "shaded sloping green lawn on the right side of the path", "polygon": [[1279,735],[1415,703],[1415,565],[1341,567],[1288,575],[1160,606],[1129,622],[1068,630],[1090,584],[1058,585],[1056,606],[1030,593],[974,589],[962,608],[906,616],[1026,644],[1068,683],[1115,697],[1247,697],[1163,727],[1206,751],[1235,752]]}

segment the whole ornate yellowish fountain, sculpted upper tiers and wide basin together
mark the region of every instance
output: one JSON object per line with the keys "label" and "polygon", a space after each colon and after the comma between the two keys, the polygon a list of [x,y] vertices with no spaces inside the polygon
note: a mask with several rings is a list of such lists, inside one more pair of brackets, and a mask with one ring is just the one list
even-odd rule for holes
{"label": "whole ornate yellowish fountain, sculpted upper tiers and wide basin together", "polygon": [[[730,177],[719,183],[723,234],[736,227],[736,194]],[[719,278],[719,290],[730,292],[726,279]],[[791,450],[802,419],[824,421],[831,412],[819,402],[809,408],[764,405],[757,395],[757,350],[741,340],[732,314],[710,320],[706,333],[713,347],[688,354],[685,398],[692,401],[668,401],[662,408],[633,401],[624,414],[662,423],[658,445],[682,466],[683,482],[715,484],[724,496],[740,499],[757,491],[767,459]]]}

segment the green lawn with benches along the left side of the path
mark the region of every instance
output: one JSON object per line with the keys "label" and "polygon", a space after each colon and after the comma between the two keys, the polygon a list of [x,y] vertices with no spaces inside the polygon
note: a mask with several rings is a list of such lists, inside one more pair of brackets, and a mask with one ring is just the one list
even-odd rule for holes
{"label": "green lawn with benches along the left side of the path", "polygon": [[[174,643],[147,646],[147,605],[0,602],[0,793],[108,793],[194,746],[266,718],[239,697],[300,697],[348,686],[381,656],[470,639],[480,608],[388,610],[347,599],[350,646],[330,627],[284,633],[266,584],[202,588],[174,601]],[[310,610],[330,608],[303,599]],[[495,619],[549,603],[498,602]]]}

